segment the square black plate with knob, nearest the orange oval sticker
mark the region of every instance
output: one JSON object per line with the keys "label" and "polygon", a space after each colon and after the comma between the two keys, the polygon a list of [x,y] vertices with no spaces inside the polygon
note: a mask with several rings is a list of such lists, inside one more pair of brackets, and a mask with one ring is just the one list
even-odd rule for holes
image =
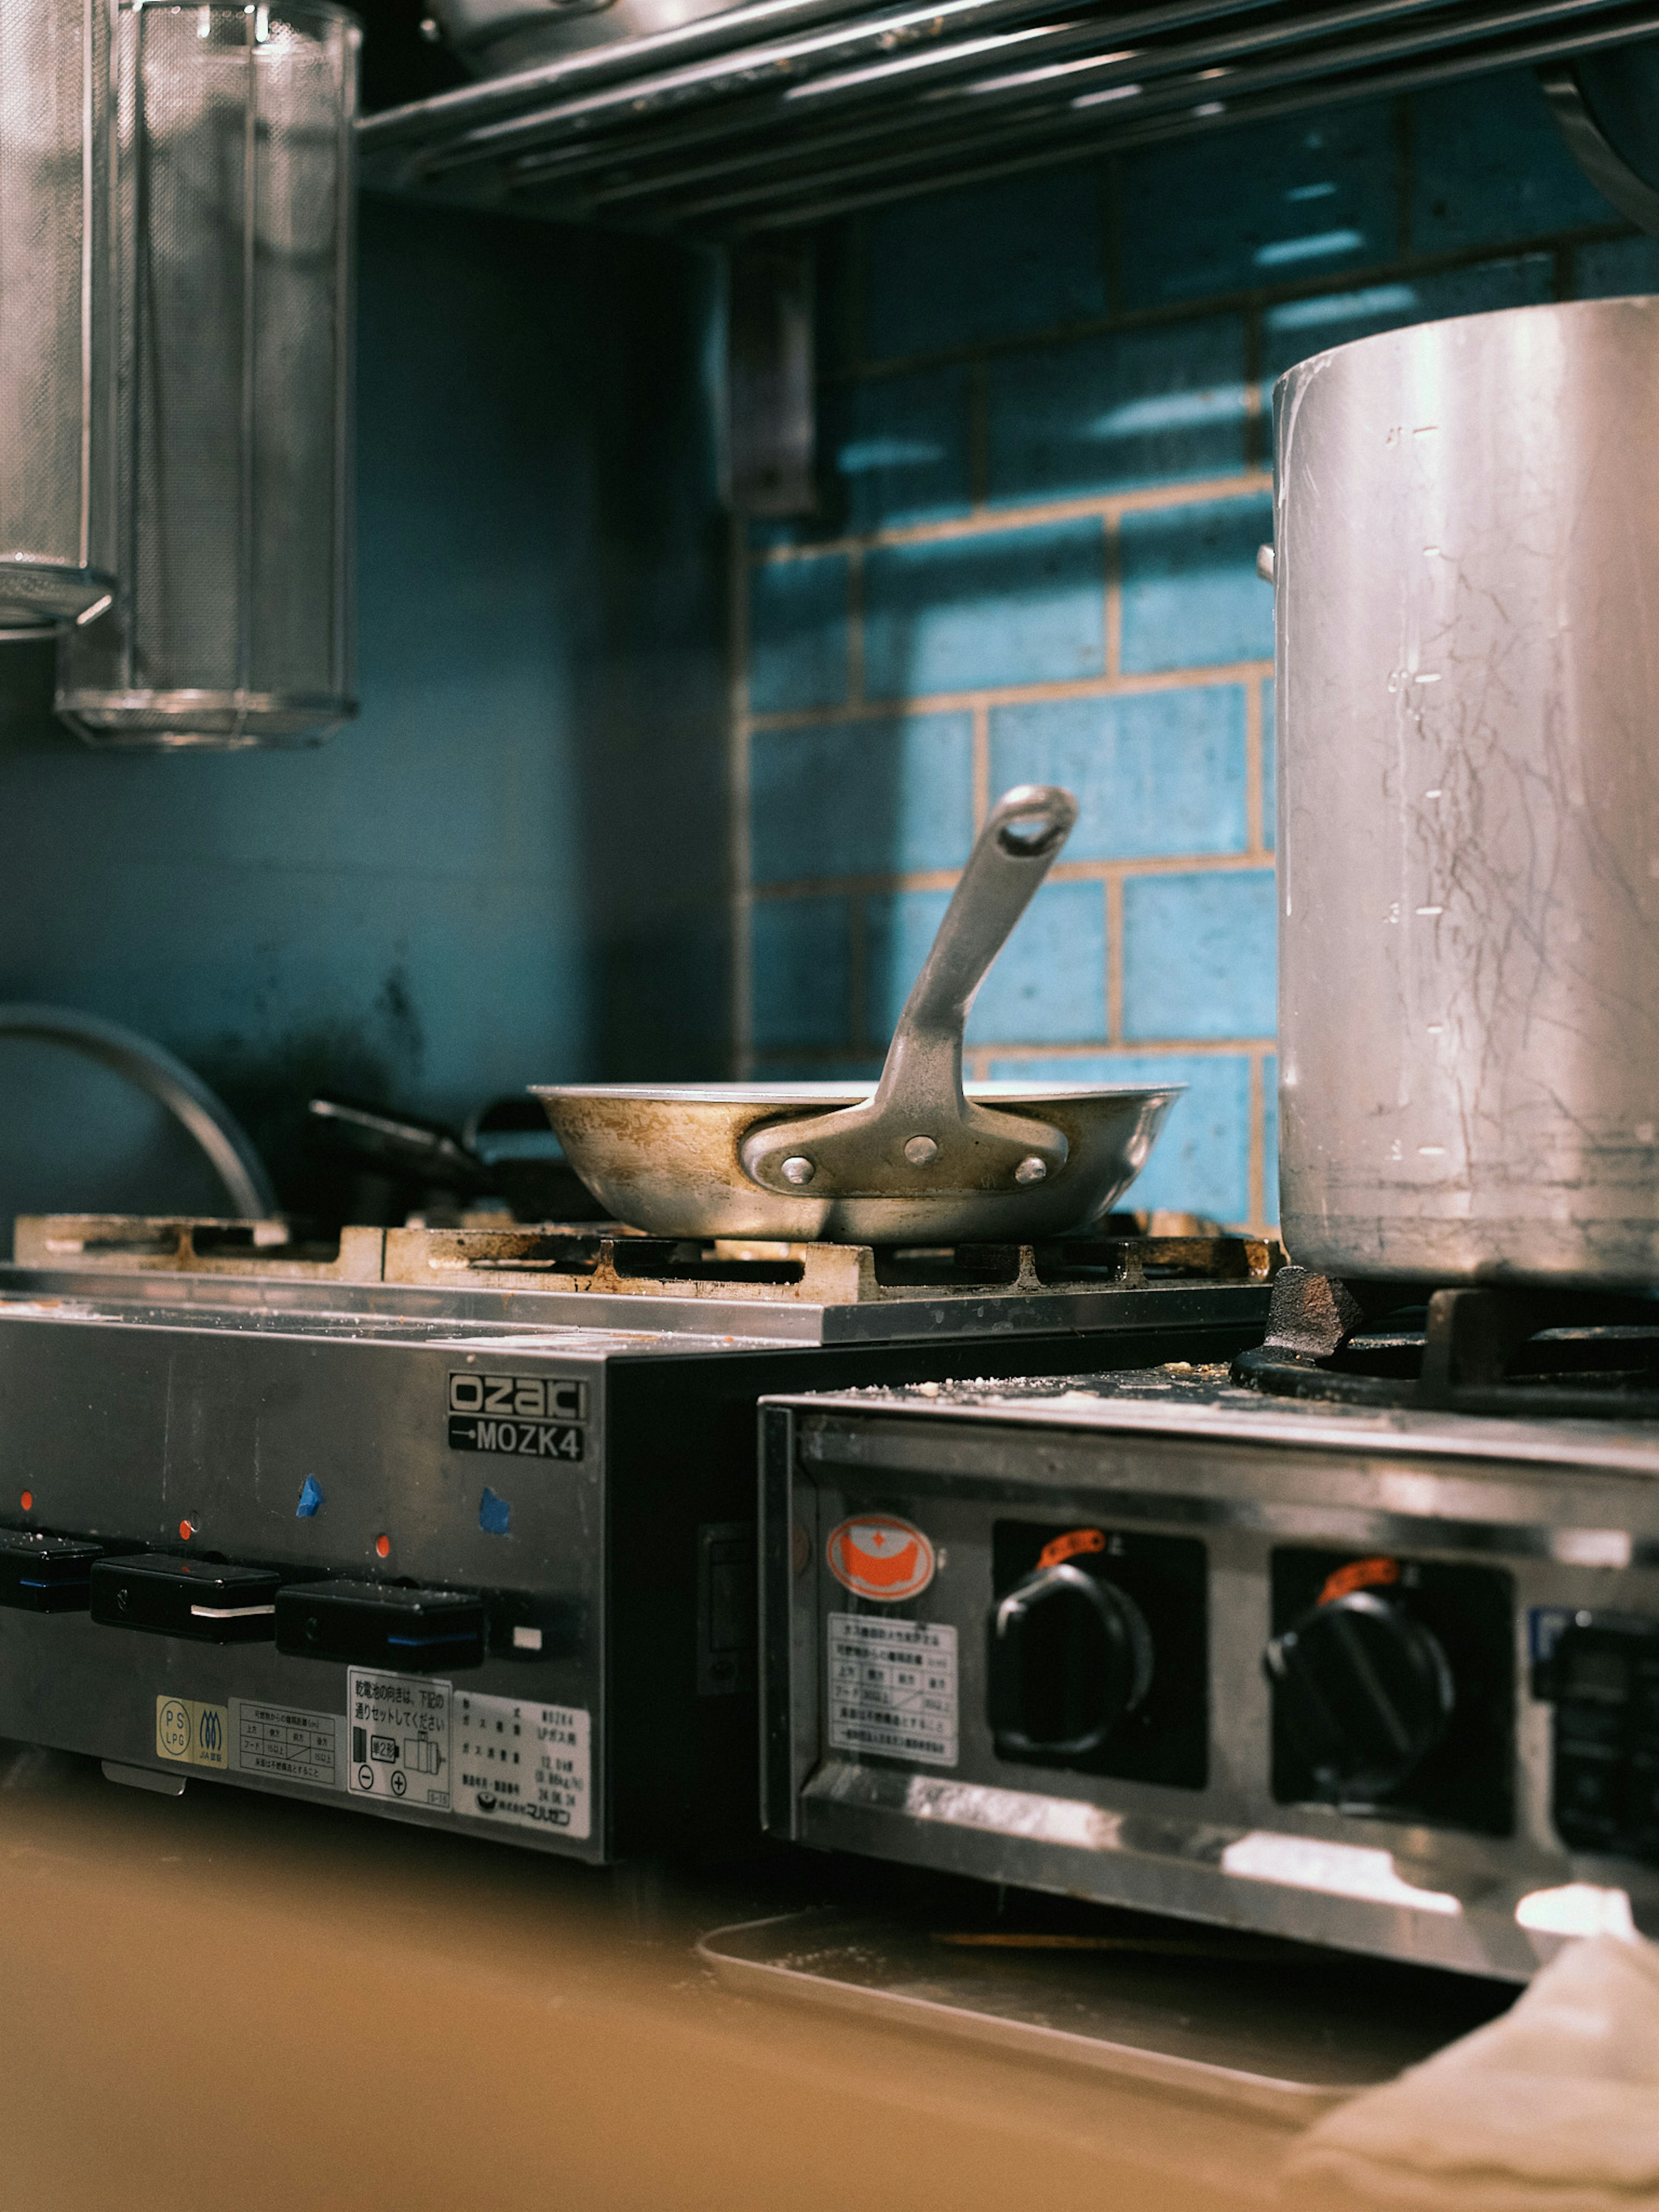
{"label": "square black plate with knob, nearest the orange oval sticker", "polygon": [[1203,1790],[1206,1582],[1192,1537],[998,1522],[987,1652],[998,1759]]}

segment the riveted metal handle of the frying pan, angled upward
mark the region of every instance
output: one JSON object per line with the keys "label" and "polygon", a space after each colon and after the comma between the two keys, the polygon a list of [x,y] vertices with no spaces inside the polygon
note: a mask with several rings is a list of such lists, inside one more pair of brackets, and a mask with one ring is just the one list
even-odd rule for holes
{"label": "riveted metal handle of the frying pan, angled upward", "polygon": [[922,962],[874,1099],[807,1119],[763,1121],[741,1146],[761,1190],[814,1199],[1020,1190],[1066,1166],[1046,1121],[973,1106],[962,1029],[991,962],[1077,821],[1053,783],[1020,783],[991,807]]}

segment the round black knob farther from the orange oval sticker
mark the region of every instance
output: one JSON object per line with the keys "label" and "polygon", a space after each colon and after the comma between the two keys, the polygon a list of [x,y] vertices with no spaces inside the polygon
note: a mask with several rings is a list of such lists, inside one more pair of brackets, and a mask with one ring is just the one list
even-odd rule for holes
{"label": "round black knob farther from the orange oval sticker", "polygon": [[1444,1736],[1455,1703],[1433,1630],[1349,1590],[1314,1606],[1267,1646],[1276,1721],[1325,1796],[1385,1796]]}

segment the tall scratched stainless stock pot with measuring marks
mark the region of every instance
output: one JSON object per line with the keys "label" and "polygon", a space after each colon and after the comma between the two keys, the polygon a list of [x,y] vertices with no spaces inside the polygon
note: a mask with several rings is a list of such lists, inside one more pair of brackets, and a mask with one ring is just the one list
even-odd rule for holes
{"label": "tall scratched stainless stock pot with measuring marks", "polygon": [[1283,1234],[1327,1274],[1659,1283],[1659,299],[1290,369]]}

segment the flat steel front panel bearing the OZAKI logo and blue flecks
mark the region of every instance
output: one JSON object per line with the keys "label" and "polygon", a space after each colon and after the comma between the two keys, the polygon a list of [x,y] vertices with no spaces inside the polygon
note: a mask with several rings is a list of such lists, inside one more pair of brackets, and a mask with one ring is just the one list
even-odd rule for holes
{"label": "flat steel front panel bearing the OZAKI logo and blue flecks", "polygon": [[[102,1624],[84,1595],[4,1604],[7,1734],[608,1854],[604,1358],[549,1332],[445,1343],[0,1303],[0,1533],[24,1528],[276,1568],[283,1601],[314,1577],[367,1599],[345,1626],[319,1608],[338,1657],[281,1650],[263,1617],[243,1624],[259,1641],[212,1641],[230,1626],[190,1608],[157,1635]],[[380,1621],[398,1586],[480,1599],[471,1641],[445,1644],[420,1604]]]}

